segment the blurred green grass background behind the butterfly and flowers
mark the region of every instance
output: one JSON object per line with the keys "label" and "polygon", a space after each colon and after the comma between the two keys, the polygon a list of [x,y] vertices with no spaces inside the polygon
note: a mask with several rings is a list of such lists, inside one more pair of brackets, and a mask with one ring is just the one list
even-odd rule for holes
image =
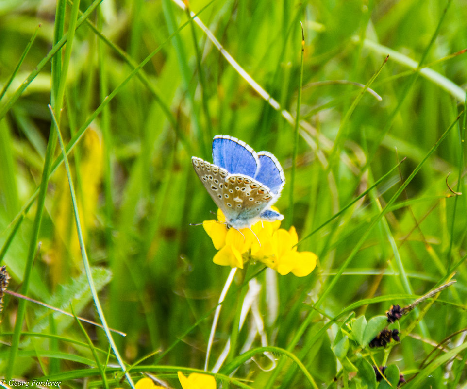
{"label": "blurred green grass background behind the butterfly and flowers", "polygon": [[[327,322],[350,304],[378,296],[381,302],[362,303],[354,311],[384,315],[391,304],[413,301],[383,301],[384,296],[422,295],[457,271],[457,284],[431,309],[412,313],[401,324],[403,331],[418,315],[421,319],[389,355],[406,379],[411,377],[438,342],[467,325],[466,196],[453,195],[446,185],[451,172],[450,186],[466,191],[463,116],[432,149],[464,106],[467,62],[459,51],[467,48],[465,2],[190,1],[189,9],[279,102],[279,110],[180,4],[82,0],[72,45],[59,49],[54,42],[70,34],[71,3],[0,2],[0,87],[6,88],[0,101],[0,264],[12,276],[10,289],[21,291],[29,267],[28,296],[68,312],[71,304],[77,315],[99,322],[63,164],[50,175],[38,231],[41,246],[28,264],[38,203],[28,204],[41,182],[54,131],[51,103],[63,107],[60,130],[66,143],[72,140],[68,158],[100,302],[109,326],[127,334],[113,335],[120,354],[131,365],[173,346],[162,358],[159,353],[138,363],[132,374],[136,380],[144,365],[180,388],[164,366],[203,368],[212,323],[208,312],[230,271],[212,263],[216,251],[203,228],[190,226],[213,219],[210,211],[216,211],[190,158],[211,161],[212,137],[232,135],[276,155],[286,176],[276,203],[285,215],[283,226],[294,225],[299,238],[314,232],[299,244],[300,251],[318,255],[309,276],[266,271],[257,279],[268,343],[287,348],[303,329],[293,352],[319,387],[343,385],[341,378],[334,383],[342,365],[331,350],[338,326],[325,331]],[[305,45],[296,144],[294,125],[284,116],[297,112],[300,22]],[[59,85],[63,105],[56,107]],[[58,144],[53,150],[55,160],[61,155]],[[400,169],[330,221],[403,158]],[[406,190],[392,199],[422,162]],[[381,213],[389,201],[392,208]],[[231,333],[237,304],[233,294],[223,305],[211,367]],[[29,335],[20,338],[11,370],[18,299],[6,295],[3,305],[0,376],[63,378],[73,388],[107,385],[76,321],[33,303],[26,304],[22,331]],[[105,334],[84,327],[105,365]],[[240,332],[240,343],[247,335],[247,329]],[[448,348],[465,344],[462,333],[450,341]],[[257,337],[253,346],[259,345]],[[383,354],[376,353],[376,360]],[[461,388],[466,355],[464,350],[453,364],[439,363],[421,387]],[[113,355],[109,364],[117,366]],[[286,372],[276,372],[274,388],[311,387],[300,374],[287,377]],[[266,384],[272,373],[251,361],[235,374],[251,380],[247,384],[253,388],[272,385]]]}

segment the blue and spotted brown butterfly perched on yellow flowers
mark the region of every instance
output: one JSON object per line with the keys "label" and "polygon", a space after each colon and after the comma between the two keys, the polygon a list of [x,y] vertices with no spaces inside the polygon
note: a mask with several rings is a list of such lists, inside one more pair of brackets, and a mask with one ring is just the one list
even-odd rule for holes
{"label": "blue and spotted brown butterfly perched on yellow flowers", "polygon": [[192,157],[199,179],[221,209],[229,227],[250,228],[259,220],[283,220],[271,209],[285,184],[284,169],[270,152],[255,152],[229,135],[216,135],[213,162]]}

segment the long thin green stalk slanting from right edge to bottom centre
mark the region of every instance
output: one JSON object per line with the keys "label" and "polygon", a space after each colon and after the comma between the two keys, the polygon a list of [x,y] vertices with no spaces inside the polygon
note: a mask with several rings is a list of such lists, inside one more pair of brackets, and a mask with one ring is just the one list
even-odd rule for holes
{"label": "long thin green stalk slanting from right edge to bottom centre", "polygon": [[[326,297],[329,295],[329,293],[331,292],[332,288],[334,288],[335,284],[337,283],[337,281],[339,280],[340,276],[342,275],[342,273],[344,272],[345,269],[347,269],[347,267],[349,266],[351,260],[354,258],[354,256],[358,253],[358,251],[360,250],[362,244],[365,242],[365,240],[367,239],[368,235],[370,234],[371,230],[373,229],[373,227],[376,225],[377,222],[379,222],[383,217],[384,215],[387,213],[388,209],[390,208],[390,206],[392,205],[392,203],[394,203],[396,201],[396,199],[400,196],[400,194],[402,193],[402,191],[405,189],[405,187],[407,185],[409,185],[409,183],[412,181],[412,179],[415,177],[415,175],[418,173],[418,171],[422,168],[422,166],[425,164],[425,162],[427,161],[427,159],[430,157],[430,155],[432,155],[434,153],[434,151],[437,149],[437,147],[439,146],[439,144],[448,136],[448,134],[450,133],[450,130],[455,126],[455,124],[457,123],[457,121],[459,120],[460,116],[462,115],[463,112],[461,112],[461,114],[454,120],[454,122],[448,127],[448,129],[443,133],[443,135],[441,135],[441,137],[438,139],[438,141],[434,144],[434,146],[430,149],[430,151],[425,155],[425,157],[423,158],[423,160],[417,165],[417,167],[412,171],[412,173],[410,174],[410,176],[407,178],[407,180],[400,186],[400,188],[397,190],[397,192],[394,194],[393,197],[391,197],[391,199],[387,202],[387,204],[385,205],[383,211],[370,223],[370,225],[368,226],[367,230],[365,231],[365,233],[362,235],[362,237],[358,240],[358,242],[355,244],[353,250],[350,252],[349,256],[347,257],[347,259],[344,261],[344,263],[340,266],[339,270],[337,271],[336,275],[334,276],[334,278],[332,279],[332,281],[329,283],[328,287],[324,289],[323,293],[321,293],[321,296],[318,298],[317,302],[315,303],[315,306],[319,307],[322,302],[326,299]],[[289,343],[289,346],[287,347],[287,350],[289,351],[292,351],[294,349],[294,347],[297,345],[297,343],[299,342],[301,336],[303,335],[303,333],[305,332],[306,328],[308,327],[308,325],[310,324],[310,322],[312,321],[314,317],[314,312],[310,312],[308,314],[308,316],[305,318],[305,320],[302,322],[302,324],[300,325],[300,328],[298,329],[298,331],[296,332],[296,334],[294,335],[294,337],[292,338],[292,340],[290,341]],[[306,352],[308,351],[307,348],[303,348],[303,350],[300,352],[300,355],[303,355],[305,354]],[[276,370],[271,374],[271,377],[269,378],[269,381],[267,382],[267,385],[265,387],[265,389],[269,389],[272,387],[277,375],[279,374],[279,372],[282,370],[282,367],[284,366],[283,363],[279,363],[278,367],[276,368]],[[284,385],[287,385],[287,383],[289,382],[289,380],[291,379],[291,377],[293,376],[294,374],[294,370],[295,369],[291,369],[289,372],[287,372],[284,380],[283,380],[283,384]]]}

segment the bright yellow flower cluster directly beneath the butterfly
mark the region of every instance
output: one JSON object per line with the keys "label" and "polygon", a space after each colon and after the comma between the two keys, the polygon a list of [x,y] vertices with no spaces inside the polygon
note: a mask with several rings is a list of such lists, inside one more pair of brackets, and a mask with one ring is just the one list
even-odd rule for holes
{"label": "bright yellow flower cluster directly beneath the butterfly", "polygon": [[279,274],[292,272],[298,277],[310,274],[316,267],[317,256],[311,252],[298,252],[295,227],[280,229],[280,221],[258,221],[251,228],[228,228],[222,211],[217,220],[205,220],[203,227],[218,250],[213,258],[217,265],[243,269],[248,259],[263,262]]}

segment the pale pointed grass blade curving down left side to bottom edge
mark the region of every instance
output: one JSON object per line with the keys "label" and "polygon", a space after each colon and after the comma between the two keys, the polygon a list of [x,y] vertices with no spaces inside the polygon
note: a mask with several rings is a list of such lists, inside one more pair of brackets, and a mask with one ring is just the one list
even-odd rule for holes
{"label": "pale pointed grass blade curving down left side to bottom edge", "polygon": [[[92,278],[92,273],[91,273],[91,266],[89,265],[89,260],[87,258],[87,253],[86,253],[86,247],[84,245],[83,232],[81,230],[80,216],[79,216],[79,213],[78,213],[78,204],[76,202],[75,189],[73,187],[73,180],[71,178],[71,171],[70,171],[70,167],[69,167],[69,164],[68,164],[67,152],[65,151],[65,145],[63,143],[62,135],[60,134],[60,129],[58,127],[57,119],[55,118],[52,107],[50,105],[49,105],[49,109],[50,109],[50,113],[52,115],[52,120],[53,120],[53,124],[54,124],[54,127],[55,127],[56,135],[57,135],[58,141],[60,143],[60,148],[62,150],[65,169],[67,170],[67,177],[68,177],[68,184],[69,184],[69,187],[70,187],[71,202],[73,204],[73,214],[74,214],[74,217],[75,217],[76,231],[77,231],[77,234],[78,234],[78,240],[80,242],[80,249],[81,249],[81,255],[82,255],[82,258],[83,258],[84,271],[86,273],[87,281],[89,283],[89,288],[91,289],[91,294],[92,294],[92,297],[93,297],[93,300],[94,300],[94,304],[96,305],[96,309],[97,309],[100,321],[102,323],[102,326],[104,327],[105,335],[106,335],[106,337],[107,337],[107,339],[108,339],[108,341],[109,341],[109,343],[110,343],[110,345],[112,347],[112,350],[114,351],[114,355],[117,358],[118,364],[120,365],[120,367],[121,367],[121,369],[123,371],[126,371],[125,364],[123,363],[123,360],[122,360],[120,354],[118,353],[118,349],[117,349],[117,347],[115,345],[114,338],[112,337],[112,334],[110,333],[110,329],[109,329],[109,327],[107,325],[107,321],[105,320],[104,312],[102,311],[102,307],[100,305],[99,297],[97,295],[96,286],[94,285],[94,280]],[[126,376],[128,382],[129,382],[130,386],[134,389],[133,380],[132,380],[132,377],[130,376],[130,374],[125,373],[125,376]]]}

